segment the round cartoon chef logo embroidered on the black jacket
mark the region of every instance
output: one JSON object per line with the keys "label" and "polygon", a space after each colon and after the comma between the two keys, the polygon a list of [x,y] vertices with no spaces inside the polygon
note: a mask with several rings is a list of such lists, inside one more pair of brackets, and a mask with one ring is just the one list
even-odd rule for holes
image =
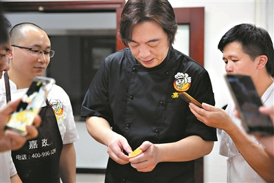
{"label": "round cartoon chef logo embroidered on the black jacket", "polygon": [[176,78],[173,82],[174,89],[178,92],[185,92],[190,89],[191,77],[187,73],[178,72],[174,77]]}

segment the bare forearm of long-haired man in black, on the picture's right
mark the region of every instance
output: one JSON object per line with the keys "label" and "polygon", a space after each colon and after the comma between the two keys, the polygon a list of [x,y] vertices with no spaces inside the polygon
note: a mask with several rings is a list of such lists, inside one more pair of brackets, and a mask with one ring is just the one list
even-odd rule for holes
{"label": "bare forearm of long-haired man in black, on the picture's right", "polygon": [[213,141],[205,141],[199,136],[189,136],[178,142],[156,144],[159,151],[159,162],[196,160],[209,154],[213,146]]}

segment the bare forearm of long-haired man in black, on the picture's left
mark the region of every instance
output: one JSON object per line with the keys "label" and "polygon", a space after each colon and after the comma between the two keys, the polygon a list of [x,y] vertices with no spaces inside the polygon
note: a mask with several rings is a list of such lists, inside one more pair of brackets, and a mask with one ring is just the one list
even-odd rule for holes
{"label": "bare forearm of long-haired man in black, on the picture's left", "polygon": [[96,141],[106,146],[109,145],[109,142],[115,135],[115,132],[112,131],[109,122],[107,122],[104,118],[92,116],[87,118],[86,124],[87,131]]}

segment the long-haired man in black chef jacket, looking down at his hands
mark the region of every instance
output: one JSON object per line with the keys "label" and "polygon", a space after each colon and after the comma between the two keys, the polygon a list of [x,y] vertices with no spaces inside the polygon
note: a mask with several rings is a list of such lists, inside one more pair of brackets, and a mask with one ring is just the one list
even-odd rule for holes
{"label": "long-haired man in black chef jacket, looking down at his hands", "polygon": [[[179,97],[215,104],[207,71],[174,50],[168,0],[124,6],[119,34],[128,48],[105,58],[82,103],[87,130],[108,147],[105,182],[194,182],[194,160],[212,151],[216,129]],[[140,147],[143,153],[128,158]]]}

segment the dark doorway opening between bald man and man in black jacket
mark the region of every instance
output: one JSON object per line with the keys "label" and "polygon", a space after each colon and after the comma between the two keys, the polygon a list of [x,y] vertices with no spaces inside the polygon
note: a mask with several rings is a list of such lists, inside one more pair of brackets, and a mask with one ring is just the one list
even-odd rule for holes
{"label": "dark doorway opening between bald man and man in black jacket", "polygon": [[91,80],[106,56],[115,52],[115,36],[50,36],[56,54],[47,76],[56,78],[71,99],[73,114],[80,119],[80,107]]}

